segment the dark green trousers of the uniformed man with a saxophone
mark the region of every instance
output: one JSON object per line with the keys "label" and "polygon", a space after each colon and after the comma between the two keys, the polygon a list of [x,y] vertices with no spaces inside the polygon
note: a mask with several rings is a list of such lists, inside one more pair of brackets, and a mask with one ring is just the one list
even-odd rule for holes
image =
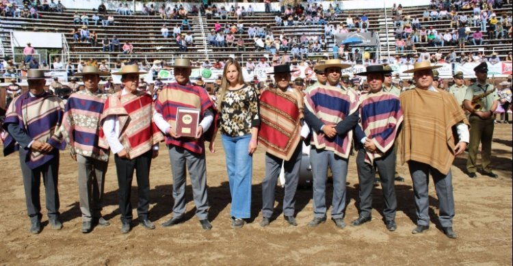
{"label": "dark green trousers of the uniformed man with a saxophone", "polygon": [[471,124],[469,157],[466,159],[466,170],[475,173],[477,170],[477,152],[481,144],[481,164],[484,172],[492,172],[490,162],[492,157],[493,117],[482,120],[479,116],[470,116]]}

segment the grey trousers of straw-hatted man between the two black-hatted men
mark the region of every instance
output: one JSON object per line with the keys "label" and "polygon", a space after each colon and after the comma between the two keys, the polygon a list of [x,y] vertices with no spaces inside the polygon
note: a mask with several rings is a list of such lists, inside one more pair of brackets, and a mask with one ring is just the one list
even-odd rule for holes
{"label": "grey trousers of straw-hatted man between the two black-hatted men", "polygon": [[333,176],[331,217],[334,219],[343,218],[347,159],[335,155],[330,150],[313,148],[310,151],[310,162],[313,172],[313,215],[319,218],[326,217],[326,179],[328,178],[329,165]]}

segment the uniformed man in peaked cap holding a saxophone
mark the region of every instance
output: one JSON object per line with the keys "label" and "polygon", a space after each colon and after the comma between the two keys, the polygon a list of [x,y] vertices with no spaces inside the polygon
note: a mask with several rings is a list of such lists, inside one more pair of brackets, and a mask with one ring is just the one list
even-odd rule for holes
{"label": "uniformed man in peaked cap holding a saxophone", "polygon": [[[470,178],[477,177],[475,174],[477,170],[477,151],[479,150],[479,143],[481,143],[482,174],[491,178],[497,178],[497,174],[493,173],[490,167],[490,156],[492,154],[494,128],[493,113],[497,109],[499,96],[494,86],[486,81],[488,78],[488,65],[486,62],[476,66],[474,72],[477,81],[466,89],[463,101],[465,109],[471,113],[469,117],[471,124],[469,157],[466,160],[466,170]],[[473,98],[476,96],[482,96],[482,99],[479,101],[479,105],[482,106],[480,109],[475,108],[475,105],[472,103]]]}

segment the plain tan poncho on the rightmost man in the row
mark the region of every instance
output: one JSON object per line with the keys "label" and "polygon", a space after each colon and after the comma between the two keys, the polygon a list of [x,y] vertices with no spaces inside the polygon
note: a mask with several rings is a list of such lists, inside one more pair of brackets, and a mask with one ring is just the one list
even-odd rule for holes
{"label": "plain tan poncho on the rightmost man in the row", "polygon": [[458,136],[453,126],[469,125],[455,98],[443,91],[408,90],[399,97],[404,112],[402,131],[397,138],[397,152],[406,161],[427,163],[447,174],[454,160]]}

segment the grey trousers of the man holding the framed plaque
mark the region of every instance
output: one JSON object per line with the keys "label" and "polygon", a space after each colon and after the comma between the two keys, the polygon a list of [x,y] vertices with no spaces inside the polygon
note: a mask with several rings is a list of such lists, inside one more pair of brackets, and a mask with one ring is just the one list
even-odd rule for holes
{"label": "grey trousers of the man holding the framed plaque", "polygon": [[188,168],[192,184],[192,195],[196,205],[196,217],[199,220],[207,219],[209,215],[209,201],[207,197],[205,150],[198,154],[179,146],[168,145],[168,148],[173,175],[173,217],[180,218],[185,214],[185,171]]}

